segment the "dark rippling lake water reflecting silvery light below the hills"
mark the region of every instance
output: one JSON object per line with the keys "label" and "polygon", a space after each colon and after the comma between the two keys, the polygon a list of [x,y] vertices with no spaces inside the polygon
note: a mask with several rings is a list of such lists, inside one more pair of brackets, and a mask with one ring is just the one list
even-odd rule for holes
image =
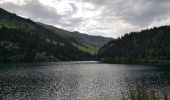
{"label": "dark rippling lake water reflecting silvery light below the hills", "polygon": [[134,83],[170,90],[170,66],[60,62],[0,64],[0,99],[119,100]]}

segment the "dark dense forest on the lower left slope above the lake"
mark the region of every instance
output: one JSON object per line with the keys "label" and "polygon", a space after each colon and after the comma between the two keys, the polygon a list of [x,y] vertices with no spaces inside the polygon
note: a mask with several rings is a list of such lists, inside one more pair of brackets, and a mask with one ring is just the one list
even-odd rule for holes
{"label": "dark dense forest on the lower left slope above the lake", "polygon": [[86,60],[92,57],[69,43],[49,40],[36,32],[2,27],[0,33],[2,62]]}

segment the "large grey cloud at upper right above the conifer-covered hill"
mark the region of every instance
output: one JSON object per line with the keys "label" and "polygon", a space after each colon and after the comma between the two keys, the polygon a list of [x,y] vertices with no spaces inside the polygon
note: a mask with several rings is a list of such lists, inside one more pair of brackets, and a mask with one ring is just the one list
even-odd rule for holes
{"label": "large grey cloud at upper right above the conifer-covered hill", "polygon": [[150,25],[170,15],[170,0],[79,0],[104,7],[101,16],[113,16],[137,26]]}

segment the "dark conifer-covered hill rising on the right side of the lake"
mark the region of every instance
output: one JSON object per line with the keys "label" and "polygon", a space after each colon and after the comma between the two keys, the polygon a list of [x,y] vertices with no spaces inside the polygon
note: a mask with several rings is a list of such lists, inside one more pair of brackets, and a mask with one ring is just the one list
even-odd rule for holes
{"label": "dark conifer-covered hill rising on the right side of the lake", "polygon": [[170,26],[125,34],[104,45],[98,56],[111,63],[170,63]]}

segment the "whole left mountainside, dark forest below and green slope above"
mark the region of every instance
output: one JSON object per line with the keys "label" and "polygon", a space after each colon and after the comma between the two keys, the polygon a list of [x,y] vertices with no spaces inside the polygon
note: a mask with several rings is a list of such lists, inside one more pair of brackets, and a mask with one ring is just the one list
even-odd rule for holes
{"label": "whole left mountainside, dark forest below and green slope above", "polygon": [[[64,34],[67,35],[64,36]],[[93,48],[96,53],[99,45],[90,43],[78,36],[76,36],[76,39],[69,37],[73,37],[73,35],[72,32],[36,23],[0,8],[1,62],[93,59],[95,56],[92,54],[94,53],[90,53],[90,50],[82,50],[82,48]],[[104,42],[102,43],[107,42],[105,39],[110,40],[110,38],[103,39]]]}

